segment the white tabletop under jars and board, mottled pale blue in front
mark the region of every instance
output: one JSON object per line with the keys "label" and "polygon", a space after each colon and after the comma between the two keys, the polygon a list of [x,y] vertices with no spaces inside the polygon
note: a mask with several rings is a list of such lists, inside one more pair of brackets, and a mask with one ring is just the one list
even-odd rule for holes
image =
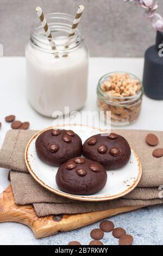
{"label": "white tabletop under jars and board, mottled pale blue in front", "polygon": [[[15,114],[17,120],[29,121],[31,130],[41,130],[51,126],[53,119],[42,117],[30,107],[26,99],[26,66],[23,57],[3,57],[0,58],[0,146],[2,145],[5,133],[10,129],[10,124],[5,123],[7,115]],[[90,58],[90,75],[87,102],[83,110],[95,111],[96,107],[96,86],[99,78],[111,71],[127,71],[142,78],[143,59],[142,58]],[[123,127],[123,129],[142,129],[142,130],[162,130],[162,107],[163,101],[156,101],[143,97],[142,111],[136,123]],[[8,171],[0,170],[0,188],[5,189],[9,182],[7,180]],[[135,234],[135,244],[162,244],[163,224],[162,206],[155,206],[112,217],[116,225],[128,228],[130,233]],[[153,223],[153,216],[156,220]],[[158,219],[156,219],[156,217]],[[145,224],[147,220],[151,221]],[[128,220],[128,223],[126,222]],[[137,220],[137,223],[135,222]],[[136,223],[136,224],[135,224]],[[142,225],[143,234],[142,234]],[[36,240],[27,227],[17,223],[0,224],[0,244],[53,244],[66,245],[70,240],[80,240],[83,244],[90,241],[89,232],[92,227],[98,224],[85,227],[70,232],[70,235],[59,234],[46,239]],[[155,236],[152,236],[153,230]],[[81,238],[82,237],[82,238]],[[84,237],[84,238],[83,238]],[[137,238],[137,240],[136,240]],[[82,240],[81,240],[82,239]],[[104,237],[105,244],[117,244],[117,240]]]}

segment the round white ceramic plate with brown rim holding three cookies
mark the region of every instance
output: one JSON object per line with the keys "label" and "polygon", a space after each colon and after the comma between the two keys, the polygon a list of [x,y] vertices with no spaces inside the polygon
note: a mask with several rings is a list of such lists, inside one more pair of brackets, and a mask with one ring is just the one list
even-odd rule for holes
{"label": "round white ceramic plate with brown rim holding three cookies", "polygon": [[[104,132],[101,129],[92,129],[92,127],[83,125],[68,125],[57,128],[73,130],[80,136],[80,138],[82,138],[83,142],[92,135]],[[45,130],[48,129],[52,129],[52,127]],[[30,139],[26,148],[25,160],[29,173],[37,182],[39,182],[40,185],[47,188],[47,190],[70,199],[83,201],[105,201],[124,196],[131,192],[139,183],[142,174],[141,162],[135,151],[131,149],[131,157],[126,166],[118,170],[109,170],[107,172],[108,180],[103,190],[90,196],[77,196],[62,192],[59,190],[55,182],[55,175],[58,167],[49,166],[42,162],[36,153],[35,141],[43,131],[36,133],[36,135]]]}

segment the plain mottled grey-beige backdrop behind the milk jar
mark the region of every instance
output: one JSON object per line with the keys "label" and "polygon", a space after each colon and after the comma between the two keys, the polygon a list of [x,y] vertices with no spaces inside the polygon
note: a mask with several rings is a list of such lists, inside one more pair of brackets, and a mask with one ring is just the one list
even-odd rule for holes
{"label": "plain mottled grey-beige backdrop behind the milk jar", "polygon": [[[163,15],[163,1],[158,12]],[[45,13],[74,15],[78,4],[85,5],[83,25],[91,56],[141,57],[153,44],[155,31],[143,19],[142,8],[123,0],[0,0],[0,44],[5,56],[23,56],[35,7]]]}

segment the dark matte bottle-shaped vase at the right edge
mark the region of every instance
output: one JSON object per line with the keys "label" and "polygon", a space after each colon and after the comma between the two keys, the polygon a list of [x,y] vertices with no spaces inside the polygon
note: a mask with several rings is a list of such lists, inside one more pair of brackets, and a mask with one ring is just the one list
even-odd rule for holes
{"label": "dark matte bottle-shaped vase at the right edge", "polygon": [[143,87],[145,94],[155,100],[163,100],[163,33],[157,32],[155,45],[145,53]]}

